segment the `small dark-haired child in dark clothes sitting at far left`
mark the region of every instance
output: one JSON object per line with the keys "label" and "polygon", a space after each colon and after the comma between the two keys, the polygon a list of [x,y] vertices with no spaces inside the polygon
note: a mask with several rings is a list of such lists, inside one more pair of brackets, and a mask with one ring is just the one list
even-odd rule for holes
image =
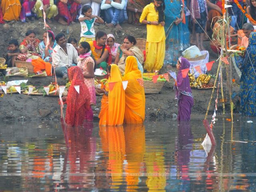
{"label": "small dark-haired child in dark clothes sitting at far left", "polygon": [[14,62],[17,59],[18,54],[20,54],[18,41],[16,39],[10,40],[7,50],[8,52],[5,56],[6,64],[8,67],[15,67]]}

